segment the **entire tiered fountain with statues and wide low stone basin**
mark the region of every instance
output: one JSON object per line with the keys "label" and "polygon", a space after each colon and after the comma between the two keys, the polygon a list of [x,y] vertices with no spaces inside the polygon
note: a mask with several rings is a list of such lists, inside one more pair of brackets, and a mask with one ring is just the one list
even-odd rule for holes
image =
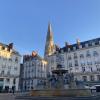
{"label": "entire tiered fountain with statues and wide low stone basin", "polygon": [[[64,76],[67,76],[68,88],[64,87]],[[52,77],[48,78],[46,88],[42,90],[31,91],[31,96],[90,96],[91,92],[87,89],[80,89],[76,86],[74,74],[68,73],[68,70],[57,65],[57,68],[52,71]]]}

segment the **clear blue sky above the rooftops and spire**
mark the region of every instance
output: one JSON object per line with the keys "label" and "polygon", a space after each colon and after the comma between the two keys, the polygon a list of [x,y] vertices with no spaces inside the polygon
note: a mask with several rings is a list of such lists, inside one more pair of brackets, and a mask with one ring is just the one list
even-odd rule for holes
{"label": "clear blue sky above the rooftops and spire", "polygon": [[0,0],[0,42],[44,55],[48,23],[55,44],[100,37],[100,0]]}

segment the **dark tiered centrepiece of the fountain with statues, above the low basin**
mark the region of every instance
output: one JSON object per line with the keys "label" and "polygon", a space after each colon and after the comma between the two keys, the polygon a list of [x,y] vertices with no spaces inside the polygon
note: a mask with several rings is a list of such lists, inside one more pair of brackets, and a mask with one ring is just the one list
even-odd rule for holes
{"label": "dark tiered centrepiece of the fountain with statues, above the low basin", "polygon": [[68,70],[65,70],[60,64],[58,64],[57,68],[52,71],[49,83],[50,88],[64,89],[65,83],[68,85],[68,88],[76,88],[74,75],[72,73],[68,73]]}

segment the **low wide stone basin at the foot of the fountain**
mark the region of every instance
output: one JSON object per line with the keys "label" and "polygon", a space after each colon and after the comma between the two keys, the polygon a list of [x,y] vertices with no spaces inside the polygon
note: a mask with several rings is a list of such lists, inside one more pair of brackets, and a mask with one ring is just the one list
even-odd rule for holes
{"label": "low wide stone basin at the foot of the fountain", "polygon": [[66,96],[80,97],[91,96],[89,89],[47,89],[47,90],[32,90],[30,96]]}

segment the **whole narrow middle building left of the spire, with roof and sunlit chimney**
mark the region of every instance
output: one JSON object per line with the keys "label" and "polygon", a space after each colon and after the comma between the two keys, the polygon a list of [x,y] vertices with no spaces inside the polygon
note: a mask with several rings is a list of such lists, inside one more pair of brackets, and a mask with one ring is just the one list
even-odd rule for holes
{"label": "whole narrow middle building left of the spire, with roof and sunlit chimney", "polygon": [[23,56],[23,91],[40,89],[45,86],[47,62],[36,52]]}

